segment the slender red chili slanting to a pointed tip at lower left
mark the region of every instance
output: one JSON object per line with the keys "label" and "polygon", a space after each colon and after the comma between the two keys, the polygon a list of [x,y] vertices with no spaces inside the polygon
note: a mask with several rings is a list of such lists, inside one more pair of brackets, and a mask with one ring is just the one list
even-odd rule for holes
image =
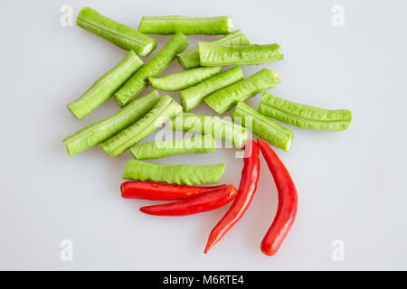
{"label": "slender red chili slanting to a pointed tip at lower left", "polygon": [[241,184],[231,208],[211,231],[204,252],[207,253],[241,219],[249,208],[259,181],[259,146],[253,140],[244,145],[244,165],[241,171]]}

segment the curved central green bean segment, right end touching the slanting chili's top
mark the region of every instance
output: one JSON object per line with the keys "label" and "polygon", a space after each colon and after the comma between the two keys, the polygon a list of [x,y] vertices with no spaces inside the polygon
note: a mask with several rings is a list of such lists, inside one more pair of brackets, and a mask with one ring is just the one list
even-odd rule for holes
{"label": "curved central green bean segment, right end touching the slanting chili's top", "polygon": [[232,121],[206,115],[183,113],[173,119],[173,129],[201,135],[212,135],[242,148],[249,139],[246,129]]}

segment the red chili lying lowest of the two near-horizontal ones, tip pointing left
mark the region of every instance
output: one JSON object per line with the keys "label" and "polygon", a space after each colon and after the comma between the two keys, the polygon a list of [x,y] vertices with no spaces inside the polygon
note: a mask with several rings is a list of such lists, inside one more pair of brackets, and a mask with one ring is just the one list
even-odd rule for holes
{"label": "red chili lying lowest of the two near-horizontal ones, tip pointing left", "polygon": [[156,216],[186,216],[201,213],[207,210],[218,209],[236,197],[236,189],[230,185],[213,191],[205,191],[199,195],[170,202],[168,204],[142,207],[143,213]]}

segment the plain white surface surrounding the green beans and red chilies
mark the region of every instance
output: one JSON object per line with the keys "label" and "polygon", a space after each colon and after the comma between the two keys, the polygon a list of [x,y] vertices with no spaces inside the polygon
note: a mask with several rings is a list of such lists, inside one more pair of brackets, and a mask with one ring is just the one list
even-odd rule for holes
{"label": "plain white surface surrounding the green beans and red chilies", "polygon": [[[75,24],[62,27],[64,4],[75,15],[89,5],[135,28],[143,15],[231,15],[252,43],[278,42],[285,54],[284,61],[244,67],[245,76],[268,67],[282,80],[273,94],[353,111],[344,132],[288,126],[292,149],[276,152],[296,182],[298,216],[277,255],[260,252],[277,209],[263,159],[250,209],[204,255],[228,206],[183,218],[147,216],[138,208],[151,201],[120,197],[129,152],[116,159],[99,147],[66,153],[64,137],[118,106],[110,99],[79,121],[65,105],[126,51]],[[334,5],[345,8],[343,27],[331,23]],[[403,1],[2,1],[0,269],[407,269],[406,8]],[[158,51],[169,37],[156,39]],[[188,39],[194,45],[216,37]],[[174,61],[163,75],[180,70]],[[205,105],[194,112],[213,114]],[[156,163],[223,161],[221,182],[238,186],[242,162],[232,149]],[[73,242],[72,262],[60,259],[62,239]],[[331,258],[334,239],[345,244],[343,262]]]}

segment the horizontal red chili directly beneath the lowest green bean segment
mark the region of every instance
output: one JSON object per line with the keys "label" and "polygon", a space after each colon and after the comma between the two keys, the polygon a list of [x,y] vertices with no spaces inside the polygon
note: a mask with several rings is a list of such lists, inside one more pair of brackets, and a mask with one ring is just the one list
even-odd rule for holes
{"label": "horizontal red chili directly beneath the lowest green bean segment", "polygon": [[225,187],[225,184],[212,187],[180,186],[159,182],[123,182],[121,196],[127,199],[142,200],[182,200]]}

